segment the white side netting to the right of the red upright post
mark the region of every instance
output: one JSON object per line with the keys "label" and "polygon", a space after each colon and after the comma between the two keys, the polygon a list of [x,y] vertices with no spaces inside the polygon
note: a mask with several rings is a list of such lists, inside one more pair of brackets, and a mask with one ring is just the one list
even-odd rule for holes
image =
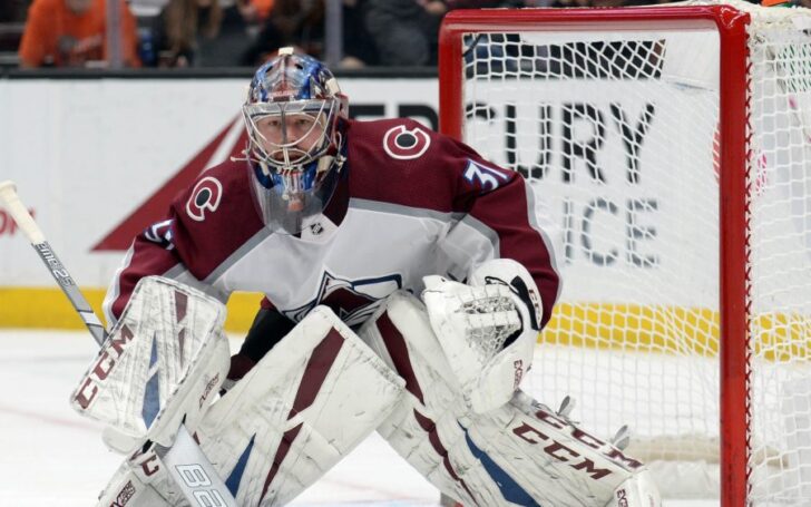
{"label": "white side netting to the right of the red upright post", "polygon": [[[783,13],[783,12],[779,12]],[[751,484],[811,503],[811,37],[801,16],[753,19]],[[811,17],[804,25],[811,28]]]}

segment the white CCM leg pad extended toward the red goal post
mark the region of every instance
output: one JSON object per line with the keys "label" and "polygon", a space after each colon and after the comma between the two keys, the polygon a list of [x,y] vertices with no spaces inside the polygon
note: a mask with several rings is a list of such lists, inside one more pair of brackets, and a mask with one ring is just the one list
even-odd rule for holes
{"label": "white CCM leg pad extended toward the red goal post", "polygon": [[642,462],[518,391],[476,413],[424,306],[401,292],[360,330],[406,379],[379,432],[441,491],[469,506],[657,506]]}

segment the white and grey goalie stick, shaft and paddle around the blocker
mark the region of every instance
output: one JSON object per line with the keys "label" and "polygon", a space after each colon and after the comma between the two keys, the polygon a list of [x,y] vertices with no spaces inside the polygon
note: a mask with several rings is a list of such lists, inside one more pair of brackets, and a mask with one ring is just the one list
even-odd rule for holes
{"label": "white and grey goalie stick, shaft and paddle around the blocker", "polygon": [[[28,208],[17,195],[17,186],[13,182],[0,182],[0,204],[11,214],[20,231],[37,251],[42,262],[50,270],[51,275],[65,292],[65,295],[74,305],[74,309],[85,322],[88,331],[96,342],[101,345],[107,339],[107,331],[90,304],[85,299],[74,279],[59,262],[53,250],[45,238]],[[201,507],[236,507],[236,500],[232,496],[223,479],[195,443],[184,425],[180,425],[175,445],[170,448],[157,446],[156,451],[167,466],[169,474],[179,486],[183,495],[193,506]]]}

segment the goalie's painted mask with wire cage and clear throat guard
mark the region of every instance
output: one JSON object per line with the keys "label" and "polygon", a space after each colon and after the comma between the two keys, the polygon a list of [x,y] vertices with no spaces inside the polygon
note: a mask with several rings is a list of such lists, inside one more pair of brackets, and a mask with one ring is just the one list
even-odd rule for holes
{"label": "goalie's painted mask with wire cage and clear throat guard", "polygon": [[319,60],[282,48],[260,67],[242,108],[246,156],[265,224],[297,234],[323,212],[344,162],[346,96]]}

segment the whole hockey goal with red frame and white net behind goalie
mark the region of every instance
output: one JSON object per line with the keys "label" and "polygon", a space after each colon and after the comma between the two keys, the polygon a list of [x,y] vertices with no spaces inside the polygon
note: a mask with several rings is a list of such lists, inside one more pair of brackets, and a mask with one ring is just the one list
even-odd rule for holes
{"label": "whole hockey goal with red frame and white net behind goalie", "polygon": [[557,236],[525,388],[666,496],[811,505],[811,11],[455,11],[440,111]]}

